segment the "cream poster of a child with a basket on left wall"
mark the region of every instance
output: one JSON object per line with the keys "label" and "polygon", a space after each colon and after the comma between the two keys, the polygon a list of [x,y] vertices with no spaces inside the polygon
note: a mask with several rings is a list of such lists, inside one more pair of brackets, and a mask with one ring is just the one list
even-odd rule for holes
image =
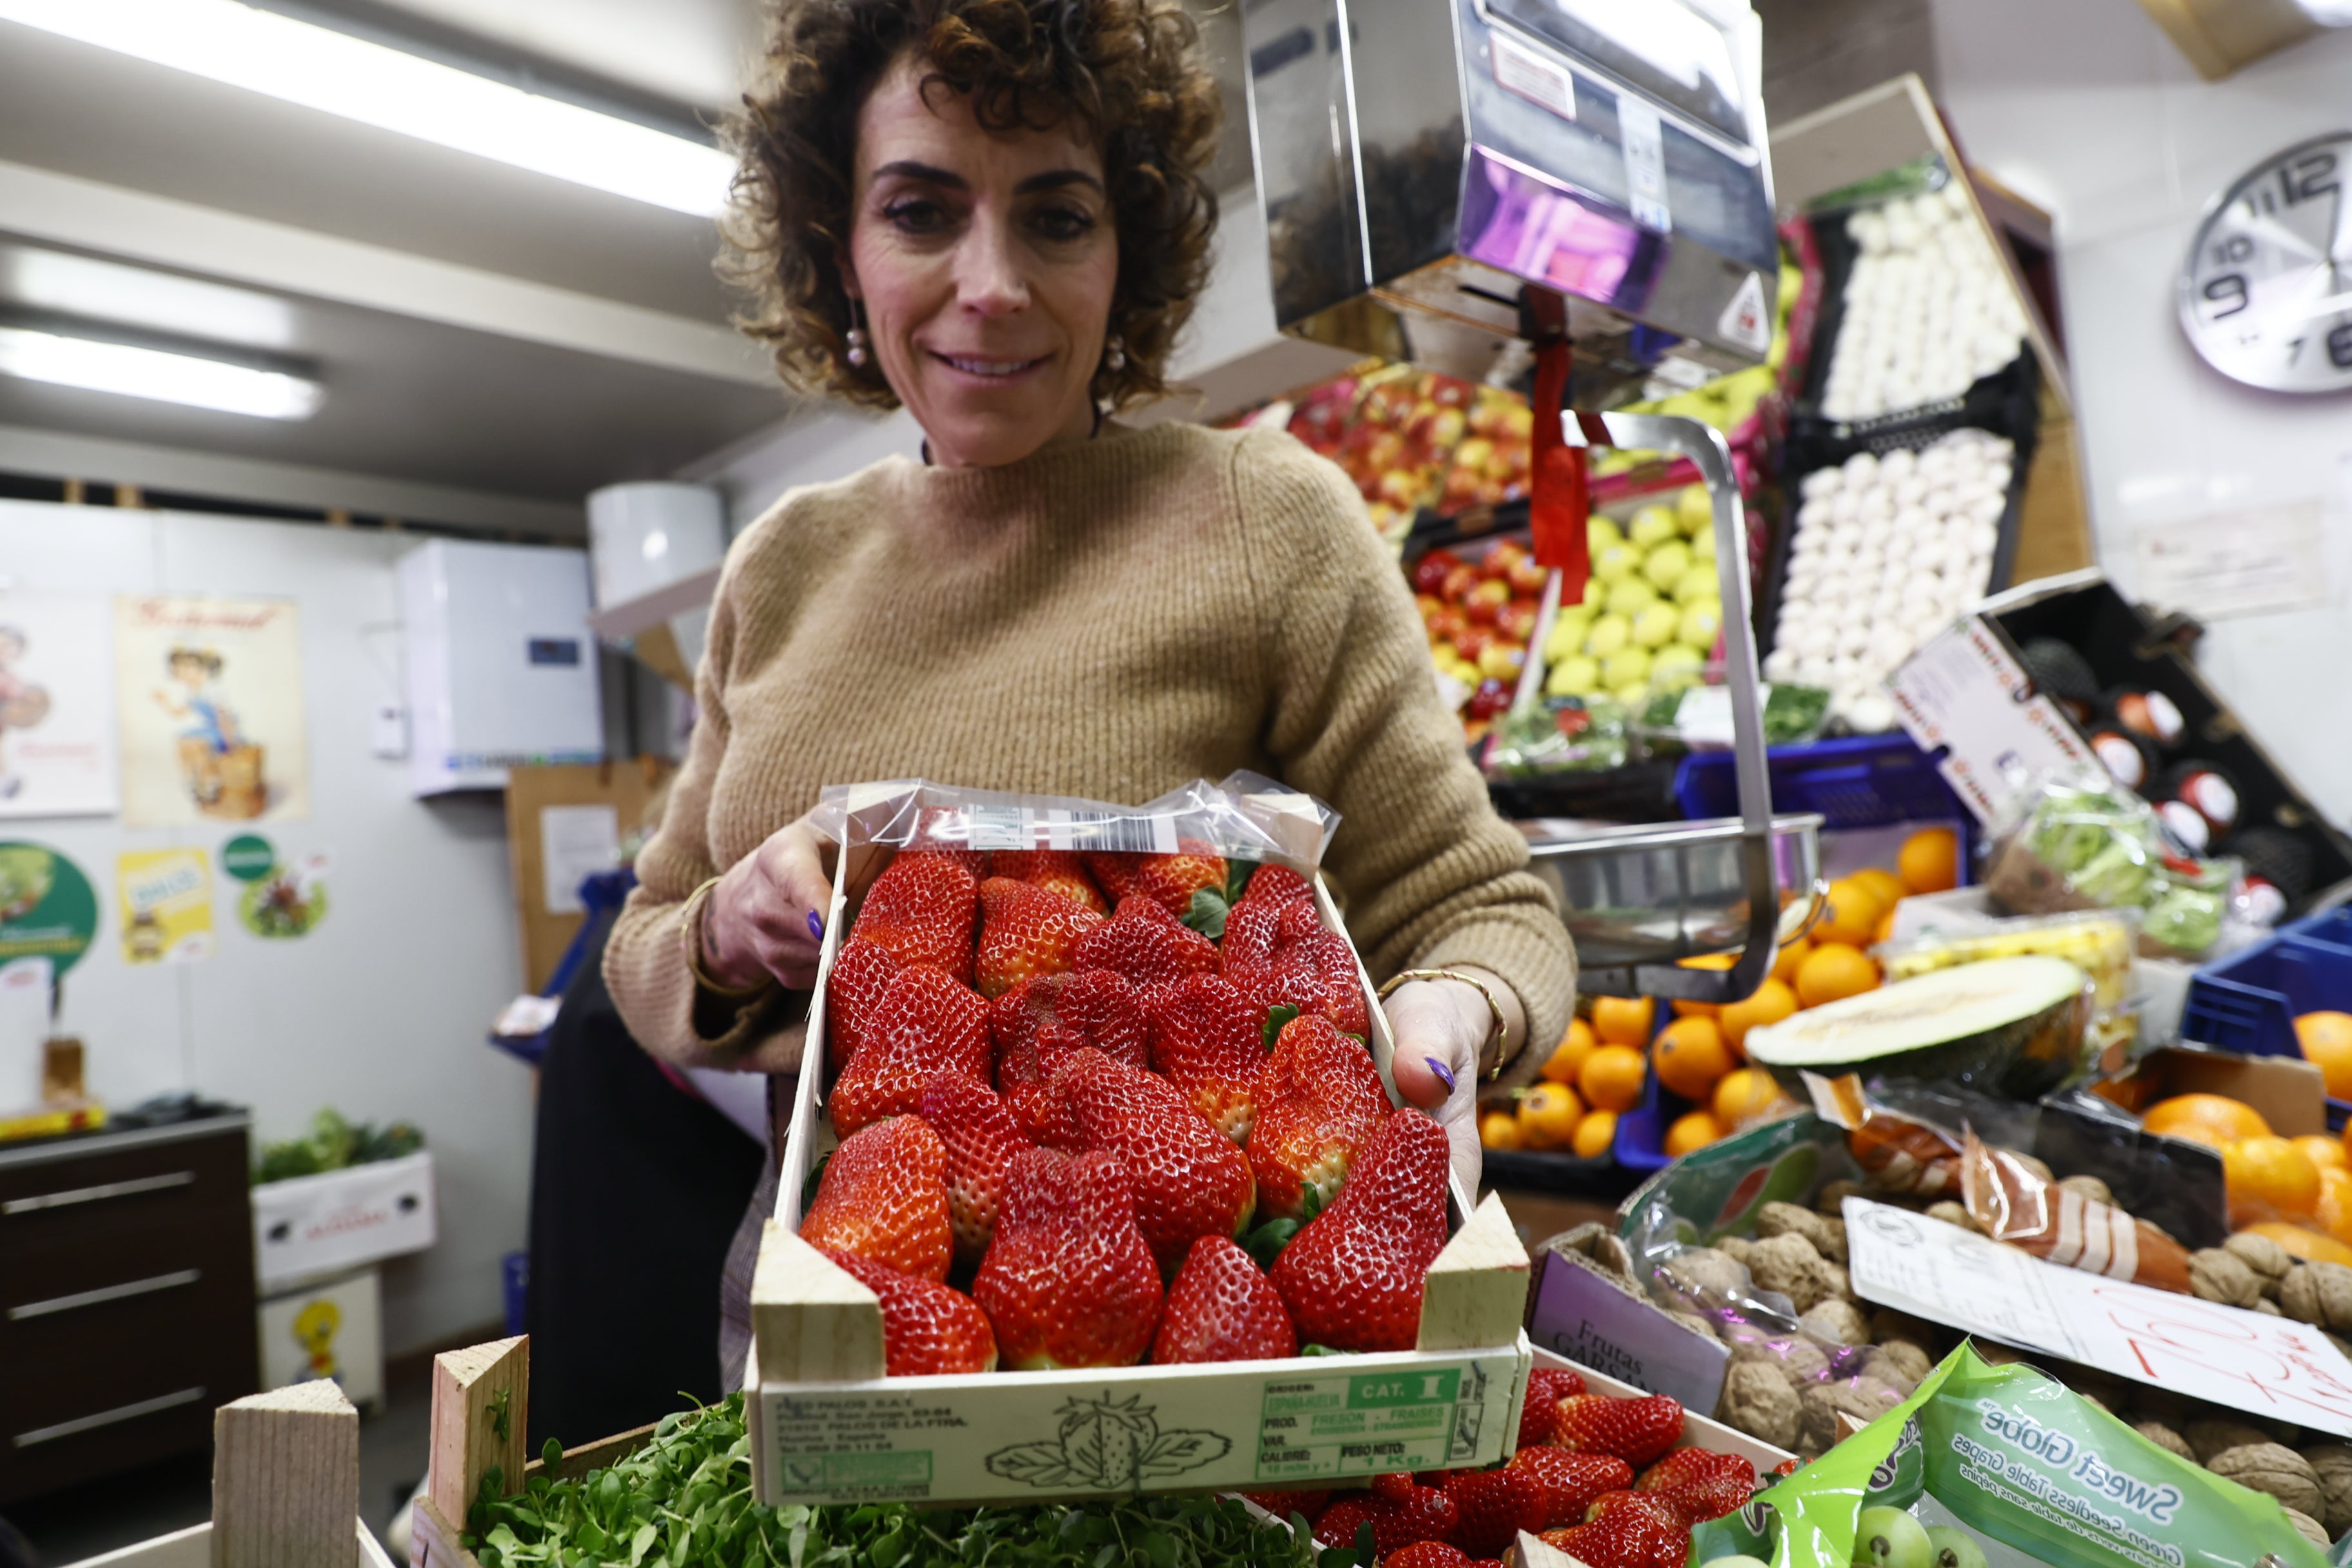
{"label": "cream poster of a child with a basket on left wall", "polygon": [[115,599],[122,820],[181,827],[310,813],[292,599]]}

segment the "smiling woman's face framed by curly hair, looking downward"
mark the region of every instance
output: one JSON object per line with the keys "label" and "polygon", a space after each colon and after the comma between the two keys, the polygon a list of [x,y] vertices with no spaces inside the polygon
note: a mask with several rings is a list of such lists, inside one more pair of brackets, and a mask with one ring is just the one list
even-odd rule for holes
{"label": "smiling woman's face framed by curly hair, looking downward", "polygon": [[898,61],[858,108],[849,294],[931,461],[1016,463],[1094,433],[1120,240],[1103,158],[1065,129],[988,132]]}

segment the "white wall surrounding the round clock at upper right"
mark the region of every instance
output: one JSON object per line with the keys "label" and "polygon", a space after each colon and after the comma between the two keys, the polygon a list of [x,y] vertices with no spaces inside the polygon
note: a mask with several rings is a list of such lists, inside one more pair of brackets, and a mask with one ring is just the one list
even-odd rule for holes
{"label": "white wall surrounding the round clock at upper right", "polygon": [[2173,315],[2204,202],[2265,155],[2352,122],[2352,28],[2204,82],[2133,0],[1933,0],[1933,16],[1964,153],[2058,216],[2105,571],[2131,592],[2150,527],[2326,501],[2326,602],[2213,621],[2201,665],[2286,771],[2352,816],[2352,395],[2225,381]]}

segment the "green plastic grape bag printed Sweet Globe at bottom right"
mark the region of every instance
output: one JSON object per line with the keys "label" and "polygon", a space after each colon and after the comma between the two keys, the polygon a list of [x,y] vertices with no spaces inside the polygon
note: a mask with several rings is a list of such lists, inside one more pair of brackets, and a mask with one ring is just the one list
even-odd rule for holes
{"label": "green plastic grape bag printed Sweet Globe at bottom right", "polygon": [[1698,1566],[1740,1556],[1771,1568],[2251,1568],[2265,1556],[2328,1568],[2274,1497],[1969,1345],[1900,1406],[1691,1535]]}

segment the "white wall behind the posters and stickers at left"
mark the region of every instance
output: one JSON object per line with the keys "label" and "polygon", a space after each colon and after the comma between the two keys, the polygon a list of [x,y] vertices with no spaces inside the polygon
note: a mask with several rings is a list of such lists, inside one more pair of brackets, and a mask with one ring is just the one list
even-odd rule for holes
{"label": "white wall behind the posters and stickers at left", "polygon": [[[256,1138],[308,1128],[320,1105],[407,1119],[440,1168],[440,1244],[383,1272],[393,1352],[501,1316],[499,1255],[522,1246],[532,1173],[529,1072],[482,1037],[522,987],[506,816],[494,795],[419,804],[407,764],[369,752],[367,717],[402,689],[393,559],[414,538],[322,527],[0,501],[0,576],[16,592],[209,592],[301,607],[310,818],[266,823],[282,856],[325,851],[327,919],[266,943],[219,886],[230,823],[132,830],[118,818],[14,818],[0,837],[71,856],[99,889],[99,940],[66,976],[64,1032],[94,1091],[129,1105],[195,1088],[254,1110]],[[5,599],[0,599],[5,604]],[[113,914],[125,849],[214,858],[219,952],[127,966]]]}

